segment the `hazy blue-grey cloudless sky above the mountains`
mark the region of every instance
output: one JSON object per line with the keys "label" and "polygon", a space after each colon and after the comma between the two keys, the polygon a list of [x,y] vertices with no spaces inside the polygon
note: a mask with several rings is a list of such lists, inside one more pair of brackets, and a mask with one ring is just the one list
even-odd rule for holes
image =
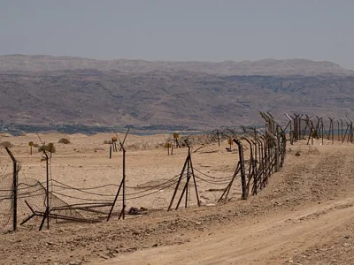
{"label": "hazy blue-grey cloudless sky above the mountains", "polygon": [[353,0],[0,0],[0,54],[308,58],[354,69]]}

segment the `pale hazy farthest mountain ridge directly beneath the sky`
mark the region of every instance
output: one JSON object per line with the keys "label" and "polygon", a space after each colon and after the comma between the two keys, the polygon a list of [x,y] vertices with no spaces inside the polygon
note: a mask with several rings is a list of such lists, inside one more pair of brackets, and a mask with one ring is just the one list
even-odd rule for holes
{"label": "pale hazy farthest mountain ridge directly beneath the sky", "polygon": [[307,59],[264,59],[259,61],[180,62],[144,60],[96,60],[82,57],[51,57],[45,55],[0,56],[0,72],[52,72],[93,69],[130,73],[147,72],[204,72],[214,75],[317,76],[334,74],[352,76],[354,71],[331,62]]}

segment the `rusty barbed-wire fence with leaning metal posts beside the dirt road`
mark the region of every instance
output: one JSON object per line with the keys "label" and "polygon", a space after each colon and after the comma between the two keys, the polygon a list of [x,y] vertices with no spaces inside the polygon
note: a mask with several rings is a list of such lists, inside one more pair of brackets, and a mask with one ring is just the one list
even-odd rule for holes
{"label": "rusty barbed-wire fence with leaning metal posts beside the dirt road", "polygon": [[[257,195],[267,186],[273,173],[283,167],[286,156],[286,128],[283,129],[281,125],[277,124],[269,113],[261,112],[261,117],[266,123],[263,128],[242,127],[242,131],[226,129],[203,135],[180,137],[179,148],[188,148],[181,173],[172,178],[158,179],[155,182],[136,186],[127,186],[126,184],[126,152],[123,147],[121,147],[123,172],[120,184],[118,182],[102,186],[77,187],[69,186],[52,178],[47,178],[47,181],[42,183],[28,178],[21,179],[14,185],[13,176],[18,176],[20,170],[17,165],[13,167],[12,173],[7,173],[4,178],[0,179],[0,183],[6,183],[4,186],[2,185],[0,203],[6,201],[6,205],[9,205],[8,202],[11,202],[11,206],[6,212],[11,212],[13,219],[15,219],[14,205],[17,205],[16,216],[19,217],[19,223],[27,225],[34,220],[42,220],[42,223],[45,220],[47,222],[55,220],[57,223],[95,223],[109,220],[112,216],[124,219],[126,214],[145,214],[148,210],[143,207],[126,208],[127,201],[138,205],[143,204],[142,202],[147,197],[154,198],[152,201],[157,201],[156,209],[172,210],[181,206],[184,208],[201,206],[204,205],[200,196],[201,183],[208,186],[208,191],[218,195],[215,202],[226,202],[230,200],[230,197],[235,198],[239,195],[241,199],[247,200],[250,195]],[[335,125],[341,126],[341,123],[335,123],[333,118],[328,118],[329,127],[325,126],[322,118],[318,118],[316,122],[313,122],[312,117],[306,115],[289,116],[289,118],[287,127],[292,132],[290,135],[293,140],[304,139],[306,135],[309,137],[316,135],[325,137],[326,135],[329,139],[335,139]],[[346,133],[342,132],[341,138],[338,139],[350,141],[350,133],[352,134],[350,123],[348,123],[346,131]],[[192,154],[199,148],[192,152],[192,146],[215,144],[220,140],[228,140],[230,148],[227,148],[227,151],[235,154],[234,171],[227,172],[225,176],[215,177],[195,167],[192,162]],[[236,148],[231,148],[232,143],[235,143],[234,147]],[[3,181],[3,179],[6,180]],[[16,181],[18,181],[18,177],[16,177]],[[16,191],[13,189],[14,186],[17,187]],[[160,196],[163,191],[172,196],[170,197],[171,201],[168,202],[168,198]],[[234,194],[232,194],[233,192]],[[6,220],[10,220],[9,215]],[[12,225],[12,229],[13,227]]]}

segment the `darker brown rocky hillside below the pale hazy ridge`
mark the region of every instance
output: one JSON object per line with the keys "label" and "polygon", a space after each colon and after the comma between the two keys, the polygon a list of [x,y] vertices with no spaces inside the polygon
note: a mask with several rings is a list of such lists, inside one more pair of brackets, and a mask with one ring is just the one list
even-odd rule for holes
{"label": "darker brown rocky hillside below the pale hazy ridge", "polygon": [[[59,64],[58,64],[59,65]],[[49,67],[50,68],[50,67]],[[353,115],[354,76],[0,72],[0,125],[257,125],[258,110]]]}

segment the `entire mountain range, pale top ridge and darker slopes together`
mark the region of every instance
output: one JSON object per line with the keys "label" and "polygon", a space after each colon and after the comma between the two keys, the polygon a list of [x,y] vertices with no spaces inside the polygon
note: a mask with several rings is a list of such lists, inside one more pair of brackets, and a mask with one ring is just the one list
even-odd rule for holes
{"label": "entire mountain range, pale top ridge and darker slopes together", "polygon": [[[354,117],[354,72],[305,59],[148,62],[0,57],[0,131],[260,125],[258,111]],[[101,130],[100,129],[100,130]],[[27,129],[25,129],[27,130]]]}

